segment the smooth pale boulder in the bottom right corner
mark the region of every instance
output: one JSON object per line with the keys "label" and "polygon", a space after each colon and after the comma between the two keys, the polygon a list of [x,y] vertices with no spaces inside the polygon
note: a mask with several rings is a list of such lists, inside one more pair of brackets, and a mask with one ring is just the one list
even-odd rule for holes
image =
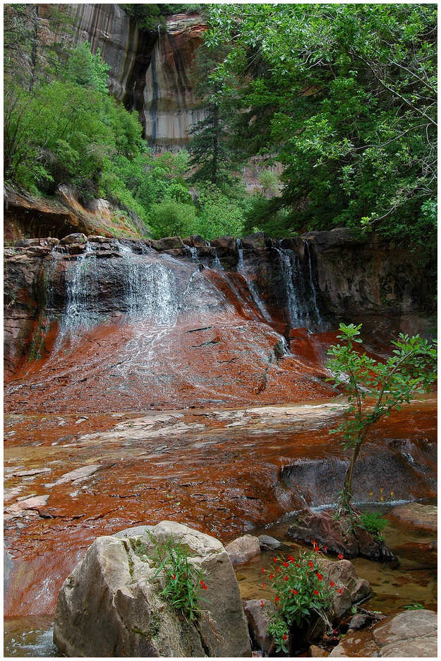
{"label": "smooth pale boulder in the bottom right corner", "polygon": [[436,657],[437,614],[406,611],[375,624],[369,631],[348,633],[331,657]]}

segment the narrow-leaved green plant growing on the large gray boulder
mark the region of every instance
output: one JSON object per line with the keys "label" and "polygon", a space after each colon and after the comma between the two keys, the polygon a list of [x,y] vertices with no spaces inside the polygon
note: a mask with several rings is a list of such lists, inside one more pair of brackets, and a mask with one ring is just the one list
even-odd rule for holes
{"label": "narrow-leaved green plant growing on the large gray boulder", "polygon": [[208,589],[202,569],[189,561],[188,549],[180,541],[175,544],[170,537],[164,544],[158,544],[150,532],[149,537],[155,546],[153,559],[158,567],[155,577],[159,573],[164,575],[162,596],[184,616],[197,619],[203,590]]}

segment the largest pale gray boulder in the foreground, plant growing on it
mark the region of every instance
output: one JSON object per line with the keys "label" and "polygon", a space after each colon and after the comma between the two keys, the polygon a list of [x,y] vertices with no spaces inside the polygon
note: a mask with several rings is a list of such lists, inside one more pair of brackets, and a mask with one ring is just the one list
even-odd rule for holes
{"label": "largest pale gray boulder in the foreground, plant growing on it", "polygon": [[[131,532],[131,531],[129,531]],[[134,531],[134,533],[139,531]],[[71,657],[241,657],[250,638],[228,554],[207,534],[171,521],[151,532],[181,542],[203,570],[203,610],[188,621],[160,594],[154,545],[146,532],[98,537],[59,593],[54,642]]]}

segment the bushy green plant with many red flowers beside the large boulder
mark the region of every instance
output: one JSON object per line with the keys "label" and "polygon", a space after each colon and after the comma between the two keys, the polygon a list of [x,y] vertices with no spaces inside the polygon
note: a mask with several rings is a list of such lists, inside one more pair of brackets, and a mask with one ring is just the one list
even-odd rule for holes
{"label": "bushy green plant with many red flowers beside the large boulder", "polygon": [[274,601],[279,609],[279,616],[274,617],[268,627],[268,633],[277,643],[277,651],[286,648],[289,628],[295,624],[301,628],[318,616],[327,626],[327,609],[339,586],[325,582],[320,573],[318,551],[303,553],[297,559],[289,556],[287,560],[275,558],[276,565],[270,571],[270,587],[275,592]]}

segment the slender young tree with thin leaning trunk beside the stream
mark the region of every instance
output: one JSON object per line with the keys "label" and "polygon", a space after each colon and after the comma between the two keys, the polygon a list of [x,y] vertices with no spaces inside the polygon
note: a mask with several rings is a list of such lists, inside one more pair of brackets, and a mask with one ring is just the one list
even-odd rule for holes
{"label": "slender young tree with thin leaning trunk beside the stream", "polygon": [[330,347],[327,368],[332,373],[329,380],[346,392],[349,409],[346,419],[330,433],[342,433],[343,447],[351,450],[337,512],[352,513],[354,467],[368,431],[394,409],[409,404],[416,393],[428,392],[436,379],[437,352],[435,344],[418,335],[400,333],[392,342],[392,356],[380,363],[355,349],[361,343],[361,324],[340,324],[339,329],[342,334],[337,337],[344,344]]}

